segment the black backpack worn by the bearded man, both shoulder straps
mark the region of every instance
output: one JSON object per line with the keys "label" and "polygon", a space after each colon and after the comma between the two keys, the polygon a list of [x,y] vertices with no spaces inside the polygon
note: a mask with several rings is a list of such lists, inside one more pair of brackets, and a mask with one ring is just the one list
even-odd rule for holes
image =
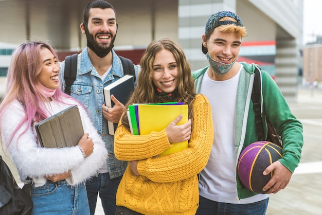
{"label": "black backpack worn by the bearded man, both shoulder straps", "polygon": [[[66,82],[65,87],[65,93],[70,95],[70,87],[73,85],[75,79],[76,79],[76,73],[77,73],[77,56],[78,53],[75,53],[74,55],[67,56],[65,58],[65,73],[64,73],[64,79]],[[122,56],[118,56],[121,59],[124,75],[132,75],[135,82],[135,70],[133,62],[130,59],[124,58]]]}

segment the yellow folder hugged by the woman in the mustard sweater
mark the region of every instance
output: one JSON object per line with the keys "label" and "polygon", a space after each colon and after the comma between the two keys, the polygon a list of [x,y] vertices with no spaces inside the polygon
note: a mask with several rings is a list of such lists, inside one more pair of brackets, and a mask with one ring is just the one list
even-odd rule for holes
{"label": "yellow folder hugged by the woman in the mustard sweater", "polygon": [[[177,125],[184,124],[188,121],[187,104],[138,105],[140,135],[150,134],[152,131],[159,132],[167,128],[169,123],[180,114],[183,114],[183,117]],[[159,155],[168,155],[186,149],[187,147],[188,140],[177,142]]]}

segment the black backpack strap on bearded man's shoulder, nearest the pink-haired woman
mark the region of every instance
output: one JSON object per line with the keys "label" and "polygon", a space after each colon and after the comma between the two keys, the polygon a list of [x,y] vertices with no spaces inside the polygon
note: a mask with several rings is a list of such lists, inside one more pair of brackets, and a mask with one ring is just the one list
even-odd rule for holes
{"label": "black backpack strap on bearded man's shoulder, nearest the pink-haired woman", "polygon": [[76,74],[77,74],[77,56],[78,53],[74,55],[67,56],[65,58],[65,69],[64,69],[64,79],[65,79],[65,93],[70,95],[70,87],[73,85]]}

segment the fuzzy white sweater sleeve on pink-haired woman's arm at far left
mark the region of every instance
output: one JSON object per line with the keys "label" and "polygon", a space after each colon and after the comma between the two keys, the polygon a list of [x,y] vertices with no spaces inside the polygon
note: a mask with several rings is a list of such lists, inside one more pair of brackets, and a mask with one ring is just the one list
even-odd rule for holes
{"label": "fuzzy white sweater sleeve on pink-haired woman's arm at far left", "polygon": [[[83,163],[84,157],[79,147],[61,149],[39,147],[31,125],[27,122],[15,131],[25,116],[22,105],[17,101],[13,102],[0,116],[3,143],[21,178],[59,174],[75,169]],[[14,136],[10,141],[12,135]]]}

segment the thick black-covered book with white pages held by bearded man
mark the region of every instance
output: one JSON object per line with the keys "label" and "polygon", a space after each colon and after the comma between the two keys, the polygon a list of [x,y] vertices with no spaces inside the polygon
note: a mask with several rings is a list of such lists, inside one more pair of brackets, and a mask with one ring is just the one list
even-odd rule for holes
{"label": "thick black-covered book with white pages held by bearded man", "polygon": [[[104,87],[105,105],[109,108],[114,106],[111,95],[114,95],[122,104],[126,104],[134,90],[134,78],[131,75],[125,75],[113,83]],[[109,134],[114,135],[118,123],[108,120]]]}

